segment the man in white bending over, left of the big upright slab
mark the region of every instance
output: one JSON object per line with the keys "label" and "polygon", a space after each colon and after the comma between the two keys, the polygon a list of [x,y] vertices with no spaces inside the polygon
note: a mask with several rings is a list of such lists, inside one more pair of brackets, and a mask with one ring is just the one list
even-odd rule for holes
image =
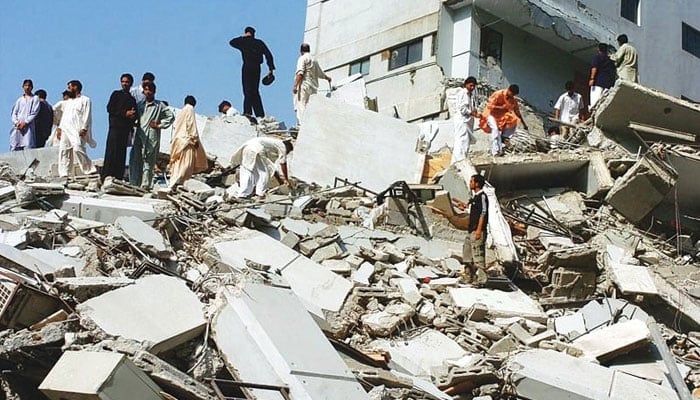
{"label": "man in white bending over, left of the big upright slab", "polygon": [[289,185],[287,155],[292,150],[294,146],[291,141],[272,137],[252,138],[243,143],[231,156],[231,166],[240,166],[236,197],[248,197],[255,190],[258,198],[264,198],[270,176],[274,174],[278,177],[278,166],[282,170],[282,183]]}

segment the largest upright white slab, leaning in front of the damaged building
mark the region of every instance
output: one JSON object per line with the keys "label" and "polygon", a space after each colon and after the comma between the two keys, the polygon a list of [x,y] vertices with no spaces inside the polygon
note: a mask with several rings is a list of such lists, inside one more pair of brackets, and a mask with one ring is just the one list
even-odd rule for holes
{"label": "largest upright white slab, leaning in front of the damaged building", "polygon": [[395,181],[419,183],[425,154],[419,129],[396,118],[314,96],[304,115],[290,172],[332,186],[336,177],[381,191]]}

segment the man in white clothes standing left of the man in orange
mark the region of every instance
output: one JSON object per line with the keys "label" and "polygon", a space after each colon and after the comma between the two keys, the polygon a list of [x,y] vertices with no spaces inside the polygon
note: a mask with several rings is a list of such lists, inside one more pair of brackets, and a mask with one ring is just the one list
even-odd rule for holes
{"label": "man in white clothes standing left of the man in orange", "polygon": [[476,111],[476,78],[468,77],[464,85],[457,92],[455,101],[455,115],[452,118],[454,125],[455,142],[452,146],[452,159],[450,164],[462,161],[469,155],[469,145],[476,140],[473,134],[474,118],[480,115]]}

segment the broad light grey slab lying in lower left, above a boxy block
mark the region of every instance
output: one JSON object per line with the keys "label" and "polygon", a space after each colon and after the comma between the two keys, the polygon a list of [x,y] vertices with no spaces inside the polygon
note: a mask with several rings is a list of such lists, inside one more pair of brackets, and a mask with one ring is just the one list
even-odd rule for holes
{"label": "broad light grey slab lying in lower left, above a boxy block", "polygon": [[204,331],[202,307],[183,280],[150,275],[89,299],[76,311],[110,335],[152,343],[150,351],[157,354]]}

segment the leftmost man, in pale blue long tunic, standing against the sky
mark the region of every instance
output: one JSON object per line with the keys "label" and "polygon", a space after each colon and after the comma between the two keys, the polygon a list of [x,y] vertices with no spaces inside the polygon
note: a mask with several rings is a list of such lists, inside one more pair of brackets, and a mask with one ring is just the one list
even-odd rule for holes
{"label": "leftmost man, in pale blue long tunic, standing against the sky", "polygon": [[12,106],[12,130],[10,131],[10,150],[34,148],[36,143],[36,125],[34,120],[39,114],[39,98],[32,94],[34,83],[31,79],[22,82],[24,94]]}

